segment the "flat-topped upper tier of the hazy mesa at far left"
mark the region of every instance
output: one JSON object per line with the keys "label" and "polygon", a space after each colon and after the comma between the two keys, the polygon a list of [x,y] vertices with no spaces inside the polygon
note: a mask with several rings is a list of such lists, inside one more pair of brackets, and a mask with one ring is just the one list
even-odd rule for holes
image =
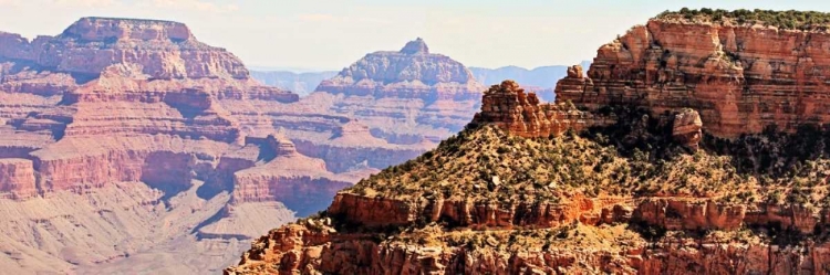
{"label": "flat-topped upper tier of the hazy mesa at far left", "polygon": [[115,64],[142,65],[153,78],[238,78],[248,70],[234,54],[196,40],[187,25],[157,20],[83,18],[56,36],[29,42],[3,35],[2,57],[94,77]]}

